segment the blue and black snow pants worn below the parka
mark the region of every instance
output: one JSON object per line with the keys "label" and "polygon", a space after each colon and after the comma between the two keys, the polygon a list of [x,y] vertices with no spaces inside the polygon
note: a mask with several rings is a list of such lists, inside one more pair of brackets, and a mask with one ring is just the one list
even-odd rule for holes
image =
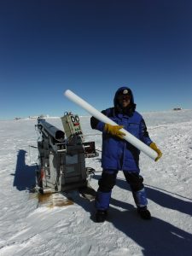
{"label": "blue and black snow pants worn below the parka", "polygon": [[[145,207],[148,204],[143,177],[136,172],[123,171],[127,183],[130,184],[132,195],[137,207]],[[103,170],[99,180],[99,188],[96,193],[96,209],[108,210],[113,186],[116,183],[118,170]]]}

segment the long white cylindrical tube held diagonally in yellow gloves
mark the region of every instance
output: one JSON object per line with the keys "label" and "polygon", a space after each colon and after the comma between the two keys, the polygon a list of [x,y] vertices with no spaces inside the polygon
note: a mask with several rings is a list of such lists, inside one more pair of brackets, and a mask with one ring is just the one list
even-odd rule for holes
{"label": "long white cylindrical tube held diagonally in yellow gloves", "polygon": [[[109,119],[106,115],[93,108],[89,103],[85,102],[82,98],[77,96],[71,90],[66,90],[64,95],[67,96],[72,102],[79,105],[81,108],[84,108],[87,112],[93,115],[96,119],[100,120],[103,123],[108,123],[109,125],[117,125],[113,120]],[[124,139],[131,143],[134,147],[138,148],[139,150],[143,151],[143,153],[147,154],[150,158],[155,160],[158,154],[154,151],[154,149],[149,148],[148,145],[144,144],[142,141],[137,139],[137,137],[133,136],[130,132],[126,131],[124,128],[120,129],[125,133]]]}

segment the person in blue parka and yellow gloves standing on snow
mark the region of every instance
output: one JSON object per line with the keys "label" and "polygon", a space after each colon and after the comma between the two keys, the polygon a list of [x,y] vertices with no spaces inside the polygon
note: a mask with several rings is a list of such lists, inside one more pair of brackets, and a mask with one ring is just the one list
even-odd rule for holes
{"label": "person in blue parka and yellow gloves standing on snow", "polygon": [[117,173],[122,170],[127,183],[130,184],[137,212],[144,219],[150,219],[147,208],[147,197],[143,185],[143,177],[139,174],[140,151],[126,142],[125,133],[119,131],[124,128],[143,143],[153,148],[159,160],[160,149],[148,136],[147,127],[140,113],[137,113],[132,91],[128,87],[120,87],[113,99],[113,108],[103,110],[102,113],[112,119],[117,125],[105,124],[95,117],[91,117],[90,125],[93,129],[102,131],[102,177],[96,193],[96,222],[103,222],[108,215],[108,207]]}

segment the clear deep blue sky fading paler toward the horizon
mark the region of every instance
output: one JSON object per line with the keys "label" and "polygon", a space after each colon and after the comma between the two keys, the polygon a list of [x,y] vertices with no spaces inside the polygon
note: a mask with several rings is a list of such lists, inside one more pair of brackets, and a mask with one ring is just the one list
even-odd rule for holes
{"label": "clear deep blue sky fading paler toward the horizon", "polygon": [[0,119],[98,110],[120,86],[137,111],[192,108],[190,0],[0,2]]}

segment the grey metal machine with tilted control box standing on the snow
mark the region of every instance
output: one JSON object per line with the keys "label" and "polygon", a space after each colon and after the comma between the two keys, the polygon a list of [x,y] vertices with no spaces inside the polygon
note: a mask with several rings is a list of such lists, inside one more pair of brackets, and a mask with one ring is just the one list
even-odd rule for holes
{"label": "grey metal machine with tilted control box standing on the snow", "polygon": [[[38,190],[44,194],[90,189],[89,175],[93,168],[85,167],[85,157],[98,155],[95,142],[84,142],[79,116],[64,113],[64,131],[38,118]],[[83,191],[83,190],[82,190]]]}

